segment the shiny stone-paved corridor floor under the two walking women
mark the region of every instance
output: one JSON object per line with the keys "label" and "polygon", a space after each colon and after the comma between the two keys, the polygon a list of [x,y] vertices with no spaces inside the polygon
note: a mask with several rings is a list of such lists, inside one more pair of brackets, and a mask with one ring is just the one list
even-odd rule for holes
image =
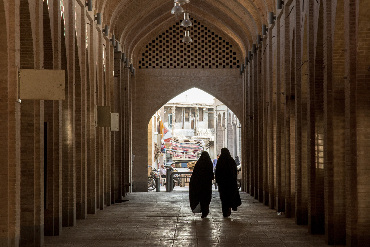
{"label": "shiny stone-paved corridor floor under the two walking women", "polygon": [[45,237],[45,246],[327,247],[322,235],[308,234],[294,219],[277,215],[249,194],[240,196],[242,206],[223,218],[218,192],[213,191],[211,211],[202,219],[189,207],[187,187],[132,193],[124,198],[129,201],[89,214],[75,227],[63,227],[61,236]]}

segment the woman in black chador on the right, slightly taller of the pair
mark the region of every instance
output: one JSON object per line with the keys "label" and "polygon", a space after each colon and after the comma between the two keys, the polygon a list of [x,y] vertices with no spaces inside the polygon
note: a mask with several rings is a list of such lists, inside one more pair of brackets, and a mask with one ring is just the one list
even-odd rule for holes
{"label": "woman in black chador on the right, slightly taller of the pair", "polygon": [[223,217],[231,215],[231,210],[242,204],[238,186],[236,185],[236,163],[231,157],[230,151],[224,147],[216,165],[216,182],[220,191],[221,207]]}

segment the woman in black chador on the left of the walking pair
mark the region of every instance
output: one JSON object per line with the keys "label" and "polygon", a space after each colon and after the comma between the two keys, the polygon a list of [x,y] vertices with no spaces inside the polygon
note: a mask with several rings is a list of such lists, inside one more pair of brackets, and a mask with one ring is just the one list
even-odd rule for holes
{"label": "woman in black chador on the left of the walking pair", "polygon": [[[189,181],[189,200],[193,213],[202,213],[202,218],[209,213],[212,198],[213,165],[208,152],[204,151],[196,161]],[[199,205],[198,205],[199,204]]]}

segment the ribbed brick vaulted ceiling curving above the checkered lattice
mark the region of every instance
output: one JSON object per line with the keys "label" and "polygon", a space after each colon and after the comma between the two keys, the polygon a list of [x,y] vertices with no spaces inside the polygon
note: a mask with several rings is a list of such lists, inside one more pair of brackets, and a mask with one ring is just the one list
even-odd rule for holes
{"label": "ribbed brick vaulted ceiling curving above the checkered lattice", "polygon": [[[104,23],[110,26],[130,58],[137,57],[142,47],[175,19],[182,19],[183,15],[171,14],[173,6],[173,0],[96,0],[95,3]],[[274,6],[275,0],[190,0],[182,7],[194,19],[202,20],[233,40],[246,56]]]}

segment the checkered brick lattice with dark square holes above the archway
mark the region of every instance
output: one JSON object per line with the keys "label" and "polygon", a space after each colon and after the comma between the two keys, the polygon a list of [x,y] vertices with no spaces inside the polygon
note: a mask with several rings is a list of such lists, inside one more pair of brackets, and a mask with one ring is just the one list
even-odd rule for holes
{"label": "checkered brick lattice with dark square holes above the archway", "polygon": [[139,58],[139,69],[239,68],[240,53],[233,44],[191,18],[188,27],[193,43],[182,43],[181,21],[156,37]]}

